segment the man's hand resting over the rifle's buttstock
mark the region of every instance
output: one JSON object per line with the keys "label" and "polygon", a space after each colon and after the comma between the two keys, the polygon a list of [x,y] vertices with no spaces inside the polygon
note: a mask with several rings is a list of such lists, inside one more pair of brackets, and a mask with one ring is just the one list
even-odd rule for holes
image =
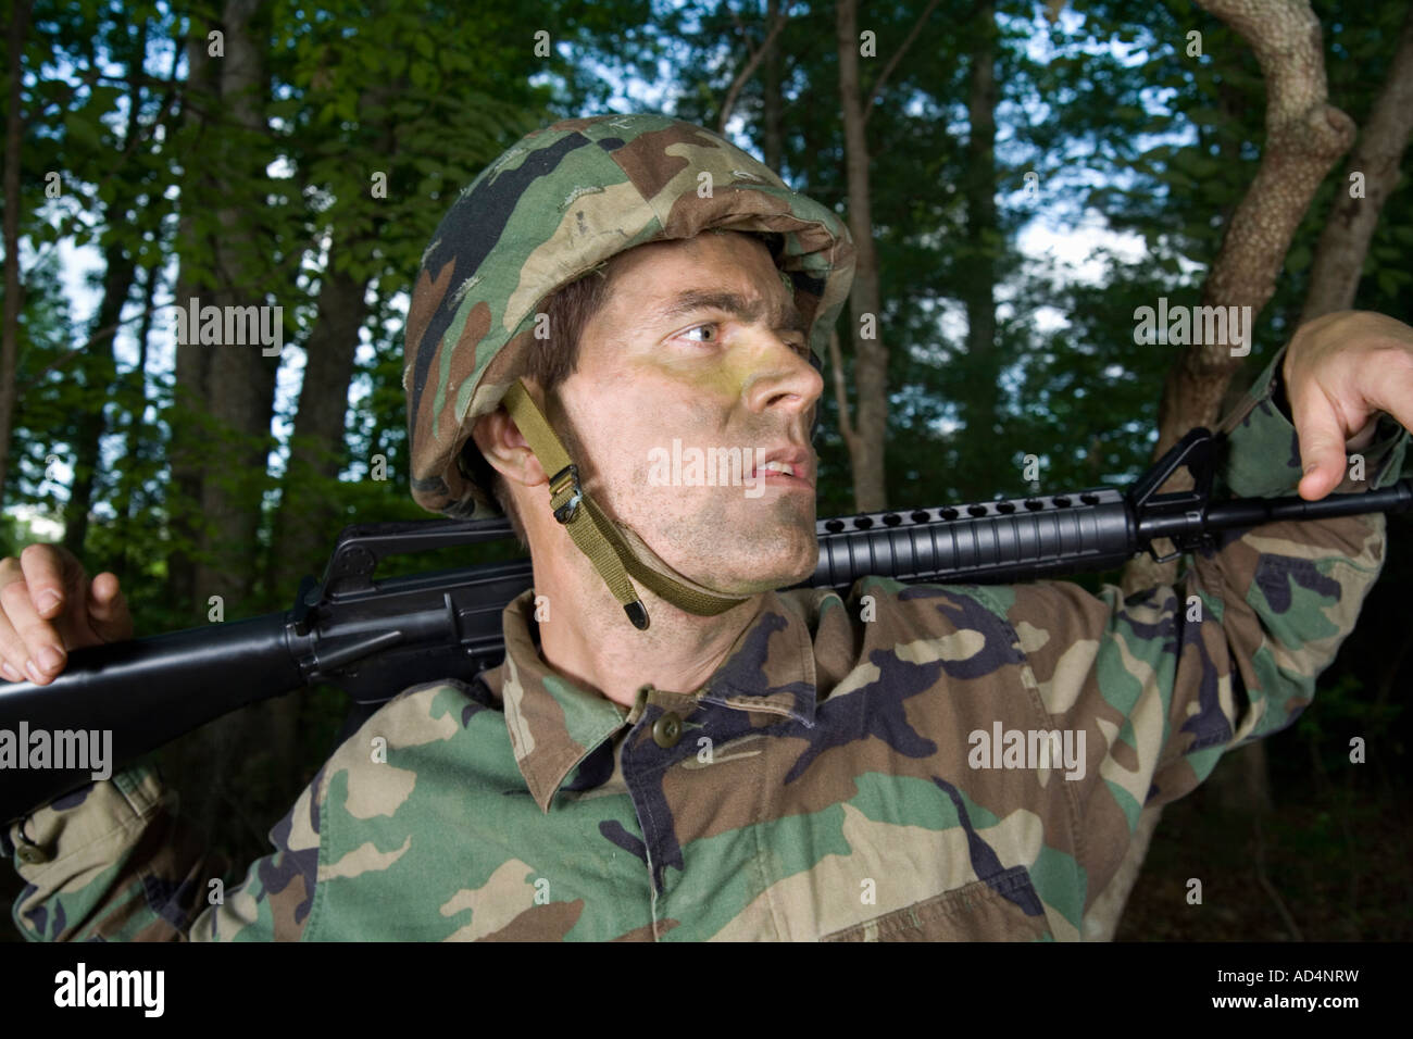
{"label": "man's hand resting over the rifle's buttstock", "polygon": [[68,650],[133,638],[114,574],[89,584],[83,564],[58,544],[28,544],[0,560],[0,674],[47,686]]}

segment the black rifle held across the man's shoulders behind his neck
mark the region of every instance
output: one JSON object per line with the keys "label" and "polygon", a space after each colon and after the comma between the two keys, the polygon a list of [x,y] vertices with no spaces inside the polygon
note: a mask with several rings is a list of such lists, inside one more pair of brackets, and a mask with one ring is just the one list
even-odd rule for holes
{"label": "black rifle held across the man's shoulders behind his neck", "polygon": [[[1108,570],[1147,551],[1160,563],[1214,544],[1217,532],[1413,507],[1413,481],[1382,491],[1210,502],[1218,441],[1193,430],[1129,488],[876,512],[818,523],[820,565],[800,588],[899,581],[1000,584]],[[1193,491],[1159,495],[1180,468]],[[117,768],[247,704],[315,683],[341,686],[357,712],[424,681],[471,681],[504,657],[502,611],[531,587],[530,560],[374,581],[389,556],[512,536],[507,520],[366,523],[339,534],[324,580],[294,608],[247,621],[73,650],[48,686],[0,684],[0,735],[110,729]],[[1174,547],[1159,557],[1153,543]],[[0,818],[89,782],[90,769],[0,770]]]}

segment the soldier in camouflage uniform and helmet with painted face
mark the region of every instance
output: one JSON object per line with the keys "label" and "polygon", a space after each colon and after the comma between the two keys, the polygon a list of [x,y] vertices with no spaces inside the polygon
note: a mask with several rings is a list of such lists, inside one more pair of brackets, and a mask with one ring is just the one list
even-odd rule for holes
{"label": "soldier in camouflage uniform and helmet with painted face", "polygon": [[[1143,806],[1310,701],[1383,517],[1228,537],[1129,599],[774,591],[815,564],[814,355],[851,254],[834,212],[697,126],[577,119],[507,151],[422,257],[404,377],[417,500],[504,509],[531,550],[504,664],[377,711],[216,905],[150,770],[38,809],[8,833],[25,936],[1082,937]],[[1226,420],[1222,483],[1382,486],[1410,404],[1413,329],[1311,322]],[[674,486],[674,440],[749,462]],[[11,677],[127,630],[116,581],[57,548],[0,581]]]}

